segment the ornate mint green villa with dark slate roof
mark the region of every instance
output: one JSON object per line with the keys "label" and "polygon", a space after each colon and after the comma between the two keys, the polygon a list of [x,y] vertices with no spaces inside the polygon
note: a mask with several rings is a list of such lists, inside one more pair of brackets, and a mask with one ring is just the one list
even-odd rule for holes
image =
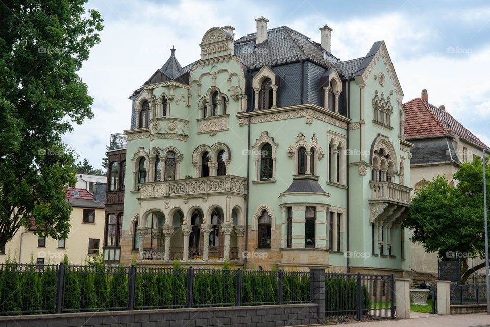
{"label": "ornate mint green villa with dark slate roof", "polygon": [[172,49],[130,97],[121,261],[403,276],[411,144],[385,43],[340,61],[328,26],[318,44],[256,22],[209,29],[185,67]]}

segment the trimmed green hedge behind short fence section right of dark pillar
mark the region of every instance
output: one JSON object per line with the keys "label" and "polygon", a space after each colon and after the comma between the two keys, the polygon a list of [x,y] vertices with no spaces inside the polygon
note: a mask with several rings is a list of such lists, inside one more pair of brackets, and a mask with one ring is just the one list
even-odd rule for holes
{"label": "trimmed green hedge behind short fence section right of dark pillar", "polygon": [[[361,286],[362,314],[369,312],[370,298],[367,286]],[[326,279],[325,311],[327,316],[357,314],[357,280]]]}

